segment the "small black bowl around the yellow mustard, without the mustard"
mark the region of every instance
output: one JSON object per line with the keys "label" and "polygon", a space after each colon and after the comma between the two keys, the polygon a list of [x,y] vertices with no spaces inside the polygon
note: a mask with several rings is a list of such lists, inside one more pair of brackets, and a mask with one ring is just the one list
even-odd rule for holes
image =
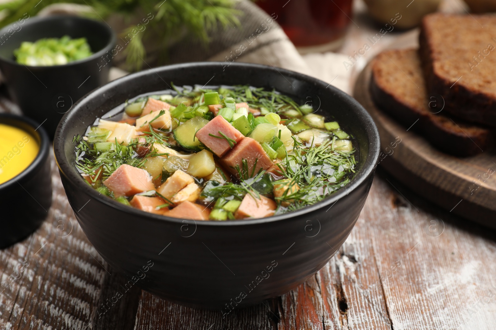
{"label": "small black bowl around the yellow mustard, without the mustard", "polygon": [[[52,176],[48,157],[50,139],[43,127],[29,118],[3,113],[0,113],[0,124],[22,129],[36,139],[39,146],[31,165],[0,184],[3,214],[0,217],[0,248],[3,248],[34,232],[46,218],[52,205]],[[2,161],[7,156],[0,157]]]}

